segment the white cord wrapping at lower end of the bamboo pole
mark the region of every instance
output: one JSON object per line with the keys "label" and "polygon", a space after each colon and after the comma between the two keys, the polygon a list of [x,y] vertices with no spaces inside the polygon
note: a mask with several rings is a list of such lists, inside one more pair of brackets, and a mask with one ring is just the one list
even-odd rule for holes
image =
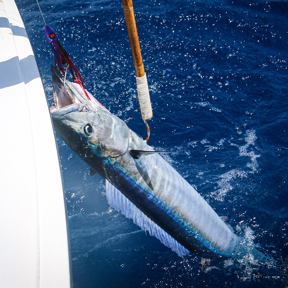
{"label": "white cord wrapping at lower end of the bamboo pole", "polygon": [[142,119],[146,122],[153,115],[146,73],[142,77],[136,76],[136,84]]}

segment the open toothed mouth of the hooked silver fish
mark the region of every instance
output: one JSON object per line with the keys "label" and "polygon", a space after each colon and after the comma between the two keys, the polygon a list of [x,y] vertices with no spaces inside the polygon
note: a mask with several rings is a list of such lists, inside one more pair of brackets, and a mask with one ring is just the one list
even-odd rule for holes
{"label": "open toothed mouth of the hooked silver fish", "polygon": [[[88,109],[104,109],[108,111],[99,101],[97,101],[88,91],[90,99],[87,98],[83,88],[67,79],[64,80],[61,72],[51,65],[52,84],[55,106],[50,108],[50,112],[67,109],[79,104],[85,105]],[[81,105],[80,105],[81,106]],[[71,110],[73,111],[73,109]]]}

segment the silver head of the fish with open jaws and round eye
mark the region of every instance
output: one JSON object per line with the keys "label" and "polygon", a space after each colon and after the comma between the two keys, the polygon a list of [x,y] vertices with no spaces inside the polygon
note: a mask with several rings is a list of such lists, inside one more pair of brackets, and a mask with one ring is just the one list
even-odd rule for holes
{"label": "silver head of the fish with open jaws and round eye", "polygon": [[91,155],[107,158],[126,153],[128,126],[92,95],[95,101],[88,100],[74,83],[66,80],[64,87],[64,80],[58,72],[52,69],[56,105],[50,112],[59,136],[83,159]]}

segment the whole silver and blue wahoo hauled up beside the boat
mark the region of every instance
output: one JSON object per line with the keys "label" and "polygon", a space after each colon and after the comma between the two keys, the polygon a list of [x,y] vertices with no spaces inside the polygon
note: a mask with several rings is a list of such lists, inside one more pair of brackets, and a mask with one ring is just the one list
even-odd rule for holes
{"label": "whole silver and blue wahoo hauled up beside the boat", "polygon": [[[180,257],[222,255],[240,259],[262,253],[236,236],[211,206],[146,141],[111,114],[88,91],[52,66],[59,136],[106,179],[108,203]],[[218,257],[218,256],[216,256]]]}

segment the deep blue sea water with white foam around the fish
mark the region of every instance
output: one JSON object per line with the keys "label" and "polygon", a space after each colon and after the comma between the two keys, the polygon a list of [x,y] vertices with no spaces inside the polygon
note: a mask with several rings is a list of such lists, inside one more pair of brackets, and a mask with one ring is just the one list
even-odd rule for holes
{"label": "deep blue sea water with white foam around the fish", "polygon": [[[16,3],[52,105],[43,19],[36,1]],[[122,1],[39,3],[86,89],[146,137]],[[154,113],[148,143],[177,151],[164,158],[276,264],[247,256],[202,269],[196,255],[179,258],[109,207],[103,179],[58,139],[74,287],[287,287],[288,3],[133,3]]]}

